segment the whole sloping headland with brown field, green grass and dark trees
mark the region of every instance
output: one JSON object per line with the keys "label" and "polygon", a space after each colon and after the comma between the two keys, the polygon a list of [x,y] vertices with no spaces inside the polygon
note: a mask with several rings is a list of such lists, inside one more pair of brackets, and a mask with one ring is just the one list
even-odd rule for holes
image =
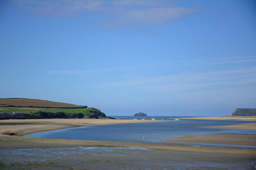
{"label": "whole sloping headland with brown field, green grass and dark trees", "polygon": [[20,118],[106,118],[100,110],[87,106],[24,98],[0,99],[0,112],[10,113],[4,118],[17,118],[12,113],[24,113]]}

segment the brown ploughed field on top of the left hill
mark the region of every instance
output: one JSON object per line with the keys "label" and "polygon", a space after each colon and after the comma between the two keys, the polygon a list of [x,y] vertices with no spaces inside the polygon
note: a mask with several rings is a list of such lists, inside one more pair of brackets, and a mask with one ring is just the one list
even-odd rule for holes
{"label": "brown ploughed field on top of the left hill", "polygon": [[2,98],[0,99],[0,106],[33,106],[33,107],[49,107],[49,108],[77,108],[83,107],[76,104],[59,103],[52,101],[42,101],[38,99],[25,99],[25,98]]}

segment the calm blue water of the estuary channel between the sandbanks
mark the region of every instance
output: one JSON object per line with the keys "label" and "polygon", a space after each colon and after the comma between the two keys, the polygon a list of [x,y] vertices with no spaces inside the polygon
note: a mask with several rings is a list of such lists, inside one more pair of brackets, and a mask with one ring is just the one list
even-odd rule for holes
{"label": "calm blue water of the estuary channel between the sandbanks", "polygon": [[[155,117],[157,119],[157,117]],[[228,120],[179,120],[162,117],[164,122],[148,122],[137,124],[98,125],[92,127],[76,127],[58,131],[29,134],[34,138],[83,139],[97,141],[131,141],[156,142],[159,139],[177,138],[185,135],[210,133],[256,133],[249,130],[208,129],[204,126],[234,125],[252,122]],[[161,117],[159,118],[161,120]],[[255,123],[255,122],[254,122]],[[145,140],[142,137],[145,136]]]}

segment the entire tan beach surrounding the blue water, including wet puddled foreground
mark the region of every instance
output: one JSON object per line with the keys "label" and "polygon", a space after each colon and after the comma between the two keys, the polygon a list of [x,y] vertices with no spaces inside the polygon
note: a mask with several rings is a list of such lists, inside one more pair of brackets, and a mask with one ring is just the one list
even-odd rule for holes
{"label": "entire tan beach surrounding the blue water, including wet puddled foreground", "polygon": [[[123,169],[125,167],[126,169],[166,169],[167,167],[167,169],[177,169],[182,166],[184,169],[198,169],[199,167],[201,169],[216,169],[216,167],[251,169],[256,164],[256,148],[179,145],[164,142],[85,141],[23,136],[34,132],[70,127],[137,122],[152,122],[152,120],[1,120],[0,157],[5,159],[4,161],[0,159],[0,168],[84,169],[86,167],[86,169],[101,169],[106,167],[107,169]],[[198,140],[204,141],[204,143],[232,145],[243,143],[253,146],[256,141],[255,135],[248,134],[209,134],[164,141],[199,143]],[[49,159],[49,154],[52,155],[51,159]],[[15,155],[20,155],[20,157]],[[44,162],[38,162],[42,160]]]}

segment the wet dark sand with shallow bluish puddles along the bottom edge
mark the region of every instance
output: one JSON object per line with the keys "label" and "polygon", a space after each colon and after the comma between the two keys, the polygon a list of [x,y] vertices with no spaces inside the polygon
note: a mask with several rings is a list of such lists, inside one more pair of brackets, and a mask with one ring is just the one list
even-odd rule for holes
{"label": "wet dark sand with shallow bluish puddles along the bottom edge", "polygon": [[145,148],[35,148],[0,152],[0,169],[254,169],[255,164],[255,157],[250,154]]}

